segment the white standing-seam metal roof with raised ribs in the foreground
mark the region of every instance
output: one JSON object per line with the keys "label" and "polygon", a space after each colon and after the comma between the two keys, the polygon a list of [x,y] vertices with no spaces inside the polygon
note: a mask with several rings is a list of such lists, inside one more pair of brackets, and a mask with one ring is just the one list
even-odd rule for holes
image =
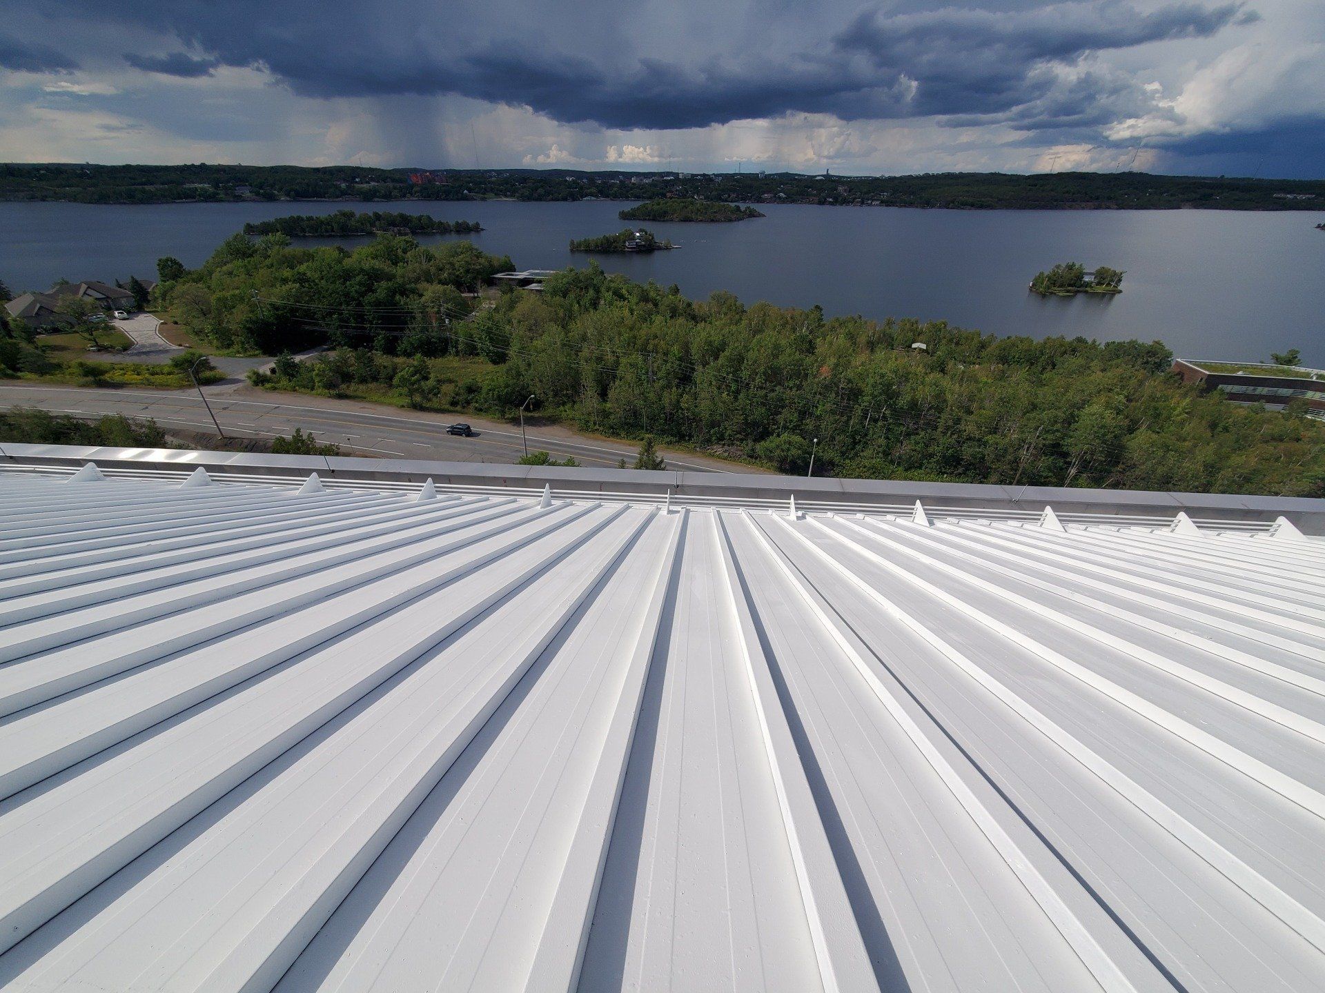
{"label": "white standing-seam metal roof with raised ribs in the foreground", "polygon": [[1325,542],[0,474],[9,990],[1320,990]]}

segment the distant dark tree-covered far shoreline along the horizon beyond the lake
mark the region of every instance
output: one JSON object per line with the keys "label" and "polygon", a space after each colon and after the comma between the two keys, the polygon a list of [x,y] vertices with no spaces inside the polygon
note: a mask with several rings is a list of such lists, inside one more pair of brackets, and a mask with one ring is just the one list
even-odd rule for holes
{"label": "distant dark tree-covered far shoreline along the horizon beyond the lake", "polygon": [[[91,204],[225,200],[706,200],[955,209],[1321,211],[1325,180],[1146,172],[795,172],[380,169],[359,166],[0,164],[0,200]],[[652,218],[643,218],[652,220]]]}

